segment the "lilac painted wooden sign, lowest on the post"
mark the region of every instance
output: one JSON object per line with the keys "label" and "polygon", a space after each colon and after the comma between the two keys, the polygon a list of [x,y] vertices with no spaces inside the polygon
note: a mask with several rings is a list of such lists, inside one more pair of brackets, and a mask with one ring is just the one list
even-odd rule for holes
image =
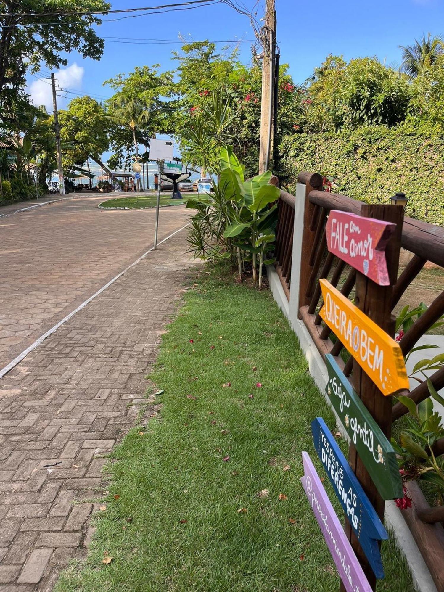
{"label": "lilac painted wooden sign, lowest on the post", "polygon": [[305,493],[346,591],[372,592],[307,452],[302,453],[302,461],[304,477],[301,481]]}

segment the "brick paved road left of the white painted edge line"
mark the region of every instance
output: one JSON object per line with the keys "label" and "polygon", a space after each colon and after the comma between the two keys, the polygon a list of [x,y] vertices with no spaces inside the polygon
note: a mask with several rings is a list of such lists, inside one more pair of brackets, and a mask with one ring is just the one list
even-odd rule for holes
{"label": "brick paved road left of the white painted edge line", "polygon": [[[103,200],[81,195],[0,218],[0,369],[152,246],[155,210],[99,210]],[[188,215],[161,208],[159,240]]]}

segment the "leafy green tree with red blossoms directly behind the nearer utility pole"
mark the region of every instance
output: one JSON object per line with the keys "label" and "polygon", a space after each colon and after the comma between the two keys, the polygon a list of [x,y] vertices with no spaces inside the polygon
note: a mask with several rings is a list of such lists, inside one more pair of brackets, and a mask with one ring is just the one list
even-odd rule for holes
{"label": "leafy green tree with red blossoms directly behind the nearer utility pole", "polygon": [[[229,120],[224,117],[223,137],[217,131],[217,122],[208,123],[208,132],[213,131],[217,146],[232,144],[236,155],[246,166],[247,176],[255,175],[259,159],[260,67],[257,64],[243,65],[237,58],[236,49],[226,48],[223,53],[216,53],[215,44],[209,41],[185,44],[182,52],[173,52],[173,56],[179,62],[176,90],[180,108],[175,115],[175,136],[184,160],[202,165],[202,150],[194,141],[195,132],[201,129],[202,122],[205,126],[205,121],[212,121],[217,112],[221,112],[214,105],[215,99],[221,97],[222,103],[228,102],[230,112]],[[276,145],[282,135],[294,130],[302,112],[300,89],[294,85],[287,70],[287,65],[282,65],[279,70]],[[201,144],[202,140],[201,137]],[[217,152],[216,148],[212,156],[215,168]]]}

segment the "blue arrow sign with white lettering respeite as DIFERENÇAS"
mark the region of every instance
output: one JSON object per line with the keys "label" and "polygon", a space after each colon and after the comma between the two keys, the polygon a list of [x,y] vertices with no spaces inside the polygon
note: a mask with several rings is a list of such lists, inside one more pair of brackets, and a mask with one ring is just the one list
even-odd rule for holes
{"label": "blue arrow sign with white lettering respeite as DIFEREN\u00c7AS", "polygon": [[384,569],[377,541],[388,539],[387,532],[321,417],[317,417],[311,422],[311,432],[313,433],[314,448],[329,476],[334,493],[336,493],[350,525],[352,525],[352,530],[358,538],[375,576],[383,578]]}

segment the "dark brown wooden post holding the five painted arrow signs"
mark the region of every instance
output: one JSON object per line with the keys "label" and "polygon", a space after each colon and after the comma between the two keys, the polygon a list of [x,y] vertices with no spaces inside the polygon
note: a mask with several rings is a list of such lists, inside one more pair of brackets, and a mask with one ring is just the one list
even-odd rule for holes
{"label": "dark brown wooden post holding the five painted arrow signs", "polygon": [[[355,304],[363,311],[372,321],[377,323],[381,329],[388,333],[391,337],[394,336],[395,323],[391,315],[392,310],[392,296],[393,286],[397,281],[399,254],[401,247],[401,232],[403,227],[404,210],[399,205],[381,205],[381,204],[363,204],[361,208],[361,215],[368,218],[377,218],[387,222],[397,224],[397,228],[389,240],[385,249],[387,259],[387,270],[390,278],[390,285],[380,286],[366,278],[360,272],[356,273],[356,295]],[[353,360],[353,375],[352,383],[355,391],[358,393],[365,407],[374,417],[379,427],[385,436],[390,441],[391,424],[392,424],[392,397],[382,395],[378,387],[374,384],[371,378],[362,370],[361,366]],[[363,490],[367,494],[369,500],[377,511],[381,520],[384,517],[384,500],[379,495],[378,490],[372,481],[366,468],[356,453],[356,448],[350,444],[349,450],[349,464],[358,477]],[[376,578],[372,571],[365,554],[359,545],[358,539],[352,532],[348,519],[345,519],[345,532],[359,563],[368,578],[368,582],[372,590],[376,589]],[[345,587],[340,584],[340,591],[344,592]]]}

